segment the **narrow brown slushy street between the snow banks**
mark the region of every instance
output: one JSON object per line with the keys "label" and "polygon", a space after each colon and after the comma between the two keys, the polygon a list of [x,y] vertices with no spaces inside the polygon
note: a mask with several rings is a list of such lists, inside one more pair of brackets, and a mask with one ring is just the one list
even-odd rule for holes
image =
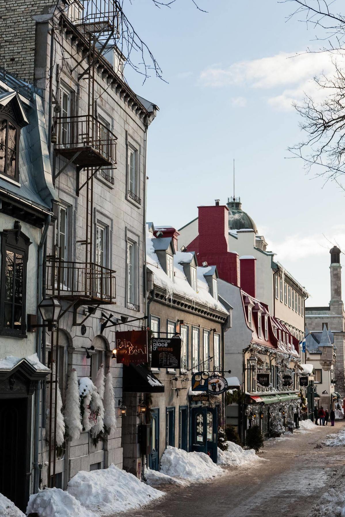
{"label": "narrow brown slushy street between the snow banks", "polygon": [[[192,484],[186,489],[157,487],[167,493],[154,508],[148,506],[126,517],[303,517],[320,496],[341,476],[345,465],[343,447],[315,448],[335,427],[315,427],[315,431],[296,432],[270,440],[260,453],[268,461],[253,467],[229,468],[212,482]],[[341,478],[345,484],[345,480]],[[321,515],[320,515],[321,517]]]}

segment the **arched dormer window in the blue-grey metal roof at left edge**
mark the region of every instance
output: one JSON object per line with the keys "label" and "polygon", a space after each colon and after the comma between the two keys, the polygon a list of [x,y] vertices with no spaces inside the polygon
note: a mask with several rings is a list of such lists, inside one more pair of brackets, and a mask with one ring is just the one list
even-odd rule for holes
{"label": "arched dormer window in the blue-grey metal roof at left edge", "polygon": [[0,174],[19,179],[19,127],[8,118],[0,118]]}

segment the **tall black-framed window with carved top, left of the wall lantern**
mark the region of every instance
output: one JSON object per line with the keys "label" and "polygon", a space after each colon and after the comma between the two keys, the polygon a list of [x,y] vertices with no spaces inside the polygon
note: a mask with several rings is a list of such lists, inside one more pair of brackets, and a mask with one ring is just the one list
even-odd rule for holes
{"label": "tall black-framed window with carved top, left of the wall lantern", "polygon": [[15,227],[1,232],[0,333],[4,336],[25,336],[26,331],[26,265],[31,242],[18,221]]}

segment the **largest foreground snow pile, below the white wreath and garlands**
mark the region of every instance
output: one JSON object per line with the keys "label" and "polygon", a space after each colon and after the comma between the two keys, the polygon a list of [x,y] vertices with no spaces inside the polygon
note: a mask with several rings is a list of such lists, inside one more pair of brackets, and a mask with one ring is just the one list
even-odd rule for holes
{"label": "largest foreground snow pile, below the white wreath and garlands", "polygon": [[85,515],[113,515],[164,495],[115,465],[91,472],[81,470],[68,482],[67,491],[92,512]]}

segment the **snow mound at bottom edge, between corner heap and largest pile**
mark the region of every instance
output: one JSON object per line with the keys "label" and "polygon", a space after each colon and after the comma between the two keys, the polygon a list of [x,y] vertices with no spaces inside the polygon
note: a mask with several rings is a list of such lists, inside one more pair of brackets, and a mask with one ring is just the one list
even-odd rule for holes
{"label": "snow mound at bottom edge, between corner heap and largest pile", "polygon": [[73,495],[60,488],[47,488],[31,495],[26,513],[31,512],[37,512],[39,517],[94,517]]}

